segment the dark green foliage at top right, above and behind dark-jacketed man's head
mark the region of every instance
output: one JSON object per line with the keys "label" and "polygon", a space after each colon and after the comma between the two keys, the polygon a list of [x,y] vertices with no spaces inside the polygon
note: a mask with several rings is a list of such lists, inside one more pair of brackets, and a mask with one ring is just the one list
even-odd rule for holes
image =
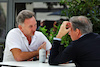
{"label": "dark green foliage at top right, above and behind dark-jacketed man's head", "polygon": [[93,23],[94,32],[100,34],[100,0],[61,0],[61,4],[68,6],[62,11],[67,17],[87,16]]}

